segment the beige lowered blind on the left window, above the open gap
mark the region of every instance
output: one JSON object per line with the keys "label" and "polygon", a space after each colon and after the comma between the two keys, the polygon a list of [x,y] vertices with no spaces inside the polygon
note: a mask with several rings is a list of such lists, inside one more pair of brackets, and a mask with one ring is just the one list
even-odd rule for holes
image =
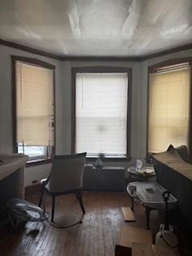
{"label": "beige lowered blind on the left window, above the open gap", "polygon": [[17,143],[54,145],[53,72],[16,62]]}

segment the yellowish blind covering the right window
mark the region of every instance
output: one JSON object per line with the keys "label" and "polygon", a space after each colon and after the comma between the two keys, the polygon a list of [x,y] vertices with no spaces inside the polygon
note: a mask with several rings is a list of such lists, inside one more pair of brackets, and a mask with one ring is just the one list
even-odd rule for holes
{"label": "yellowish blind covering the right window", "polygon": [[190,67],[150,74],[148,151],[188,145]]}

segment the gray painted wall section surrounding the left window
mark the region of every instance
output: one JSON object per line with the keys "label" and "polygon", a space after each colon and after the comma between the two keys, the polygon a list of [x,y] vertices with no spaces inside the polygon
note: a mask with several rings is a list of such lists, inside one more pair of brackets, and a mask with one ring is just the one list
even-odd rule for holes
{"label": "gray painted wall section surrounding the left window", "polygon": [[[6,46],[0,46],[0,154],[13,153],[12,130],[12,82],[11,82],[11,55],[38,58],[56,66],[55,93],[56,93],[56,144],[57,153],[70,152],[66,149],[65,110],[69,105],[66,101],[68,90],[64,82],[62,62],[50,58],[44,58],[35,54],[28,54],[22,50],[16,50]],[[65,100],[63,100],[65,99]],[[27,167],[26,186],[33,180],[45,178],[50,172],[50,165]]]}

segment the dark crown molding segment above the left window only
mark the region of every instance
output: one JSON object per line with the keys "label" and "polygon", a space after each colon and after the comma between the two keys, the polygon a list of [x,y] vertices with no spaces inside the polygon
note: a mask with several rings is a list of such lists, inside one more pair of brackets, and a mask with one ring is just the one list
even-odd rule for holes
{"label": "dark crown molding segment above the left window only", "polygon": [[37,54],[37,55],[40,55],[40,56],[44,56],[46,58],[54,58],[54,59],[57,59],[59,61],[62,61],[62,57],[59,56],[59,55],[50,54],[50,53],[48,53],[44,50],[38,50],[38,49],[35,49],[33,47],[30,47],[30,46],[23,46],[23,45],[21,45],[17,42],[10,42],[10,41],[6,41],[6,40],[3,40],[3,39],[0,38],[0,45],[8,46],[8,47],[18,49],[18,50],[23,50],[23,51],[26,51],[27,53],[30,53],[30,54]]}

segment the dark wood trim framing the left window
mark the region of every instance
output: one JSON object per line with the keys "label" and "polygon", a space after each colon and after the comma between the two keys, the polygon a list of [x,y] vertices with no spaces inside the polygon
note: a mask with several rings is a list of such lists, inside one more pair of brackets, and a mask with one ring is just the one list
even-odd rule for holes
{"label": "dark wood trim framing the left window", "polygon": [[[15,56],[11,55],[12,61],[12,122],[13,122],[13,152],[17,153],[17,143],[16,143],[16,134],[17,134],[17,120],[16,120],[16,62],[26,62],[27,64],[44,67],[46,69],[50,69],[54,71],[54,127],[56,127],[56,120],[55,120],[55,66],[47,63],[42,62],[37,58],[26,58],[22,56]],[[52,150],[52,155],[55,154],[55,142],[56,142],[56,129],[54,129],[54,147]],[[30,160],[27,162],[26,166],[38,166],[42,164],[46,164],[52,162],[52,158],[37,158],[34,160]]]}

